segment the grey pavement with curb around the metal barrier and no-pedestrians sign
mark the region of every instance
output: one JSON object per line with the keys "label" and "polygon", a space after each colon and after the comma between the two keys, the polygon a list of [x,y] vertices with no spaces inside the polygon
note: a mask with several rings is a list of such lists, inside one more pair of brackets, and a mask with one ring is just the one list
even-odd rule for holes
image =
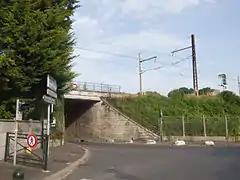
{"label": "grey pavement with curb around the metal barrier and no-pedestrians sign", "polygon": [[64,146],[50,149],[50,157],[48,161],[49,172],[43,172],[41,167],[29,167],[17,165],[13,167],[12,163],[0,161],[0,180],[12,180],[12,173],[15,168],[20,168],[24,174],[24,180],[55,180],[66,174],[71,165],[83,163],[81,158],[86,155],[86,149],[77,144],[67,143]]}

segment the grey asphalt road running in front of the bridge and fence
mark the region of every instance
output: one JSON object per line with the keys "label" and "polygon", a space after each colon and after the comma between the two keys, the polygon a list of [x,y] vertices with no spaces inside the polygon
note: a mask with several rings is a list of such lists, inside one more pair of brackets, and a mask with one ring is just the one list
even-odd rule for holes
{"label": "grey asphalt road running in front of the bridge and fence", "polygon": [[239,180],[240,148],[88,145],[67,180]]}

